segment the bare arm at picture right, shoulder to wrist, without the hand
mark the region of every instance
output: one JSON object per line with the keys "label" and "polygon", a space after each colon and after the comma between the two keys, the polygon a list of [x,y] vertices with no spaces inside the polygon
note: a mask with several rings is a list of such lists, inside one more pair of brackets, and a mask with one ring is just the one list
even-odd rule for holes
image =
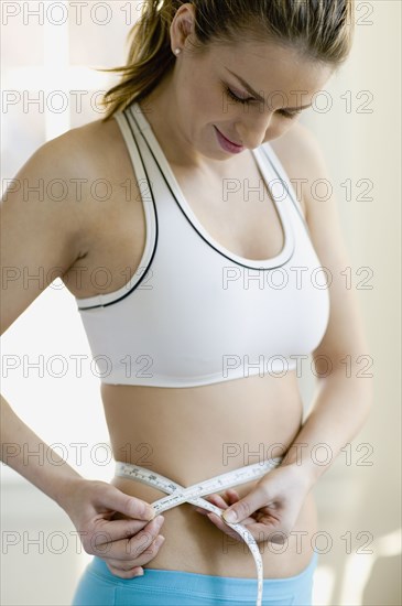
{"label": "bare arm at picture right, shoulder to wrist, without the hand", "polygon": [[[319,145],[309,131],[300,129],[296,150],[298,176],[308,178],[304,192],[307,225],[320,263],[329,270],[330,317],[326,334],[313,354],[317,383],[312,411],[283,462],[297,464],[314,483],[334,463],[345,444],[366,422],[373,394],[373,368],[365,335],[356,290],[347,288],[345,270],[350,267],[344,244],[337,202],[314,199],[311,185],[332,181]],[[314,448],[324,444],[319,455]],[[297,446],[298,445],[298,446]],[[327,464],[322,464],[326,459]],[[319,458],[319,463],[317,459]]]}

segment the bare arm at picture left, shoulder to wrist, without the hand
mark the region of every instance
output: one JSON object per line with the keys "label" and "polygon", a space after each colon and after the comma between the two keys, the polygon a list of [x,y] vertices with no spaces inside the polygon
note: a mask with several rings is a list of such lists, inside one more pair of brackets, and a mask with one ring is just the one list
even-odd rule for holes
{"label": "bare arm at picture left, shoulder to wrist, without the hand", "polygon": [[[67,182],[74,161],[72,156],[67,159],[66,150],[74,152],[74,140],[75,133],[67,133],[40,148],[15,175],[1,201],[1,333],[48,285],[41,280],[24,281],[24,272],[37,275],[41,269],[50,280],[62,278],[86,246],[82,237],[83,209],[74,199],[56,202],[33,191],[40,180],[43,192],[55,177]],[[43,462],[31,457],[28,465],[24,450],[39,447],[51,451],[1,397],[2,461],[62,506],[70,484],[82,476],[67,463],[56,465],[62,459],[54,451]],[[54,465],[50,463],[52,459]]]}

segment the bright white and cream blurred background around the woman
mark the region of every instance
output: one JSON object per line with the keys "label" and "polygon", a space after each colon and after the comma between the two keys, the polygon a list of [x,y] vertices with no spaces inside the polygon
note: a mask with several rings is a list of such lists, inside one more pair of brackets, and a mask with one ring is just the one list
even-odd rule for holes
{"label": "bright white and cream blurred background around the woman", "polygon": [[[90,0],[79,12],[61,1],[2,3],[2,192],[44,141],[100,117],[90,99],[113,80],[94,68],[124,63],[126,35],[139,4]],[[341,454],[315,488],[320,528],[333,539],[316,575],[315,604],[323,606],[401,604],[401,3],[358,1],[357,17],[350,59],[326,87],[330,110],[315,108],[302,118],[327,159],[354,288],[365,277],[359,268],[373,271],[372,290],[358,289],[358,296],[374,360],[374,409],[350,446],[350,465]],[[78,93],[72,94],[78,90],[82,108]],[[34,98],[40,102],[29,104]],[[351,199],[341,185],[347,180]],[[366,194],[372,201],[363,199],[361,180],[372,183]],[[77,355],[86,356],[80,377]],[[99,381],[75,301],[61,282],[3,335],[2,356],[2,393],[17,414],[82,475],[110,479]],[[42,375],[24,356],[40,362]],[[302,385],[307,405],[312,389]],[[371,464],[362,465],[367,448]],[[58,506],[10,467],[0,470],[1,604],[69,604],[90,556],[79,553],[75,529]]]}

